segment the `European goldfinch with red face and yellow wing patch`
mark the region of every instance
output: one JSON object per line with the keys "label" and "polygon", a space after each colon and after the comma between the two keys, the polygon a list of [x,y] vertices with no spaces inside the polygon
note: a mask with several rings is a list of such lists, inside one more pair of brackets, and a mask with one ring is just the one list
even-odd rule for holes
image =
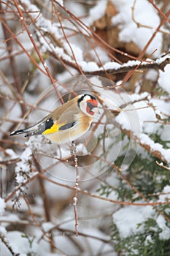
{"label": "European goldfinch with red face and yellow wing patch", "polygon": [[12,132],[10,135],[19,135],[20,133],[26,133],[25,137],[45,135],[54,143],[69,143],[88,131],[96,112],[98,112],[96,97],[90,94],[81,94],[53,110],[37,124]]}

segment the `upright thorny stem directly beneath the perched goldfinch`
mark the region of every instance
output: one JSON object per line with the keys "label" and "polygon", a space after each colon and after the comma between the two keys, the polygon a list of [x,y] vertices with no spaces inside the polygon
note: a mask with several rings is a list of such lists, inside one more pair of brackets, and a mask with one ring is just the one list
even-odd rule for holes
{"label": "upright thorny stem directly beneath the perched goldfinch", "polygon": [[76,156],[76,145],[74,141],[72,141],[72,147],[71,147],[71,154],[74,159],[74,167],[76,169],[76,184],[75,184],[75,195],[73,197],[73,206],[74,206],[74,217],[75,217],[75,233],[76,236],[78,236],[78,214],[77,214],[77,201],[78,201],[78,189],[80,184],[80,175],[79,175],[79,168],[78,168],[78,160]]}

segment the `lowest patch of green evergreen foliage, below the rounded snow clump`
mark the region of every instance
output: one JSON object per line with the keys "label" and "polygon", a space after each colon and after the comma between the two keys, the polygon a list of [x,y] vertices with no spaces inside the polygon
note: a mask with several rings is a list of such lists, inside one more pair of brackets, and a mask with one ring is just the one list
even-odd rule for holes
{"label": "lowest patch of green evergreen foliage, below the rounded snow clump", "polygon": [[161,240],[159,233],[161,229],[157,227],[154,219],[147,219],[142,223],[143,233],[132,234],[127,238],[120,238],[116,225],[112,224],[112,241],[115,242],[115,250],[121,256],[169,256],[170,239]]}

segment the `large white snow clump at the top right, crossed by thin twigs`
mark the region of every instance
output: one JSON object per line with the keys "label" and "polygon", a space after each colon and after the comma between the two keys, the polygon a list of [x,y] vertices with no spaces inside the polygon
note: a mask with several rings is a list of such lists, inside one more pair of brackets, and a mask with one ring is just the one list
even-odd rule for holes
{"label": "large white snow clump at the top right, crossed by thin twigs", "polygon": [[[112,0],[112,3],[116,5],[118,10],[118,14],[112,18],[112,24],[114,26],[118,25],[120,28],[120,41],[134,42],[142,50],[152,37],[153,31],[160,23],[158,12],[154,9],[154,7],[152,7],[152,4],[150,4],[149,1],[136,1],[134,18],[137,23],[140,23],[142,26],[147,26],[137,27],[136,23],[132,21],[131,8],[134,5],[134,0]],[[153,56],[158,57],[161,54],[161,48],[162,34],[157,33],[149,45],[149,48],[147,48],[147,53],[150,54],[157,49]]]}

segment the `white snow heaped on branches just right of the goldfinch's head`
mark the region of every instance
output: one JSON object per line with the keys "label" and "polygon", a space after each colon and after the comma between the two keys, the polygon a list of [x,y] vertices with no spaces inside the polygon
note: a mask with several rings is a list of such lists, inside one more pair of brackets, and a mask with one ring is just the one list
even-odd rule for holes
{"label": "white snow heaped on branches just right of the goldfinch's head", "polygon": [[[126,107],[124,111],[120,112],[115,120],[118,124],[120,124],[123,129],[133,131],[134,135],[139,138],[139,141],[142,144],[150,146],[151,151],[159,151],[162,154],[163,158],[166,159],[167,162],[170,162],[170,149],[163,148],[163,145],[161,143],[155,143],[150,138],[150,135],[152,135],[152,133],[157,132],[158,134],[160,134],[163,140],[170,139],[169,125],[166,125],[162,130],[161,124],[156,118],[156,115],[161,116],[161,118],[165,118],[166,116],[164,116],[163,113],[169,115],[169,102],[164,102],[162,99],[150,99],[150,94],[148,94],[147,92],[144,92],[141,95],[132,94],[129,97],[131,98],[131,101],[129,101],[129,103],[135,103],[129,105],[128,108]],[[126,111],[131,108],[132,111]],[[136,115],[136,118],[134,114]],[[140,135],[139,131],[141,132]]]}

